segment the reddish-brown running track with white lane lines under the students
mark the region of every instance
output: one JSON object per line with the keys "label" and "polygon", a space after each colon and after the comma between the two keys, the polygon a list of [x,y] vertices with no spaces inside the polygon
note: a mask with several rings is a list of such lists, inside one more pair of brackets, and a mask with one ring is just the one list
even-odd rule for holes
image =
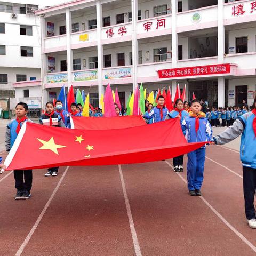
{"label": "reddish-brown running track with white lane lines under the students", "polygon": [[234,150],[207,147],[203,197],[187,194],[172,159],[44,173],[28,201],[14,201],[12,173],[0,176],[0,255],[256,255]]}

